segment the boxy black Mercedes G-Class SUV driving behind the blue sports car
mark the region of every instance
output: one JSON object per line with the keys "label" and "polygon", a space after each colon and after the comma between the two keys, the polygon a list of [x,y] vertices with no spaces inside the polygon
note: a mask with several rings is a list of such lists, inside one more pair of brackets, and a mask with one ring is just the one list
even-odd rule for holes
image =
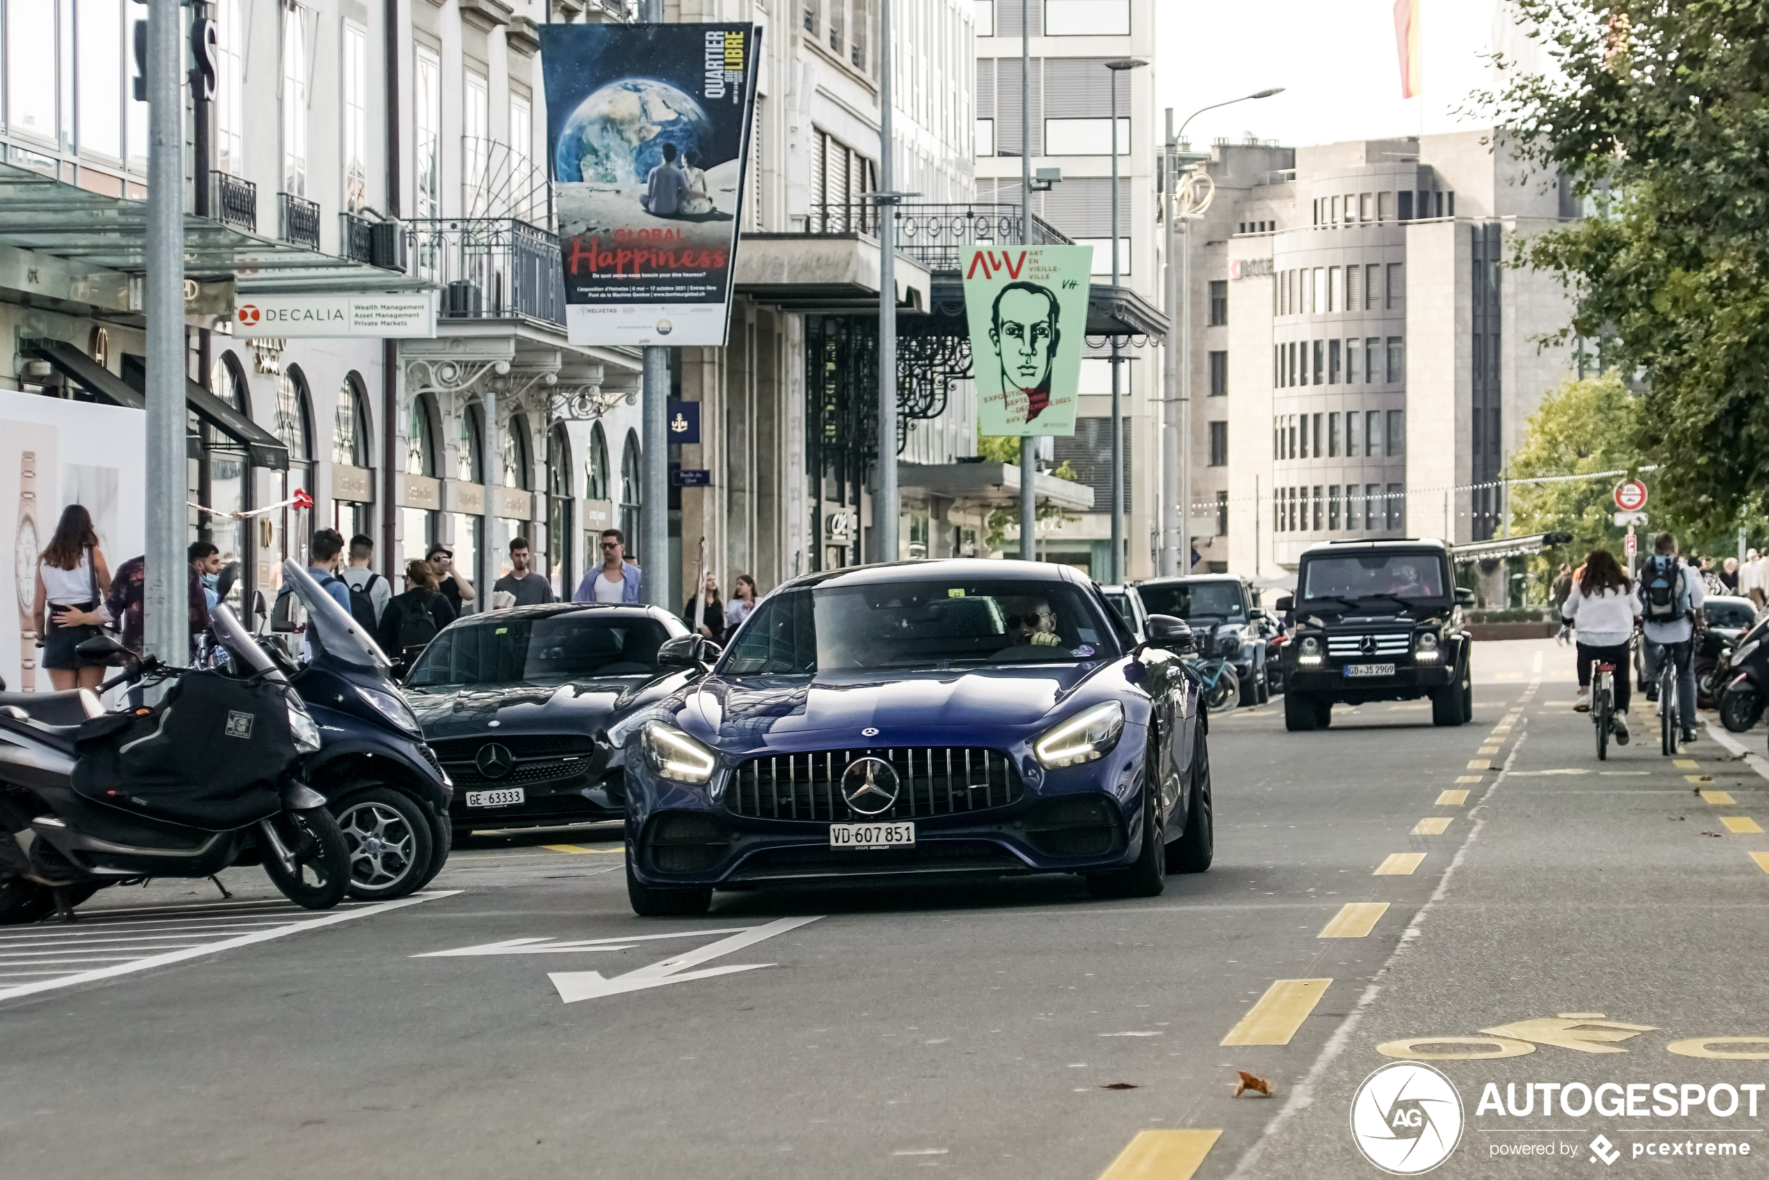
{"label": "boxy black Mercedes G-Class SUV driving behind the blue sports car", "polygon": [[1284,727],[1323,729],[1332,706],[1431,697],[1431,724],[1474,720],[1474,644],[1444,541],[1329,541],[1302,552],[1297,593],[1281,598]]}

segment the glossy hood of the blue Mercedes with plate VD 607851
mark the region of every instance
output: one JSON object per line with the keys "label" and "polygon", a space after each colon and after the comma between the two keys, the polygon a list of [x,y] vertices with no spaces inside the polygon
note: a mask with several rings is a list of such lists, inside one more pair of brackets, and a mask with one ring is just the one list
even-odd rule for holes
{"label": "glossy hood of the blue Mercedes with plate VD 607851", "polygon": [[[1109,665],[1107,665],[1109,667]],[[881,745],[915,743],[934,729],[1031,725],[1102,669],[1053,667],[943,672],[819,672],[816,676],[709,676],[683,693],[681,720],[724,748],[835,731]]]}

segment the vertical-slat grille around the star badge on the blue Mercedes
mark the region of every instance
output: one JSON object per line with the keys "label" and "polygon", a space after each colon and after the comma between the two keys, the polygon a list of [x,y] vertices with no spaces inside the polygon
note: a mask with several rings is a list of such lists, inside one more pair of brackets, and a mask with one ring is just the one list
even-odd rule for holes
{"label": "vertical-slat grille around the star badge on the blue Mercedes", "polygon": [[[886,761],[897,771],[897,803],[884,812],[863,816],[842,798],[842,771],[862,757]],[[755,819],[897,821],[1005,807],[1022,791],[1019,771],[999,750],[819,750],[743,762],[725,787],[725,805],[734,816]]]}

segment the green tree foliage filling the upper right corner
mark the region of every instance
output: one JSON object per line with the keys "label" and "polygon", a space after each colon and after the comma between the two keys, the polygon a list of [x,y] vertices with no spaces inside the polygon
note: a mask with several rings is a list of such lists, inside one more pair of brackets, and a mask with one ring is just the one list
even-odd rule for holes
{"label": "green tree foliage filling the upper right corner", "polygon": [[1649,389],[1654,497],[1719,527],[1769,485],[1769,5],[1520,0],[1555,67],[1477,104],[1592,216],[1520,244]]}

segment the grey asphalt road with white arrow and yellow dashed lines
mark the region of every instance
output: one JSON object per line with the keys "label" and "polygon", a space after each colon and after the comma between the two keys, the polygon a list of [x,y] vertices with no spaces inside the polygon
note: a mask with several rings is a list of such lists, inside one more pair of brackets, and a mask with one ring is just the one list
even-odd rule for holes
{"label": "grey asphalt road with white arrow and yellow dashed lines", "polygon": [[[1507,642],[1472,725],[1228,715],[1215,867],[1157,899],[1037,877],[640,920],[607,826],[471,840],[428,899],[311,925],[257,870],[228,902],[101,895],[0,931],[0,1178],[1375,1176],[1350,1115],[1396,1053],[1461,1102],[1373,1099],[1415,1125],[1401,1168],[1454,1127],[1440,1175],[1608,1171],[1599,1134],[1617,1169],[1760,1171],[1704,1152],[1769,1153],[1769,1092],[1716,1113],[1769,1070],[1686,1053],[1769,1051],[1700,1040],[1769,1037],[1769,762],[1704,731],[1673,764],[1636,724],[1599,764],[1571,699],[1569,649]],[[1535,1083],[1647,1083],[1647,1113],[1543,1116]],[[1650,1115],[1661,1083],[1702,1097]]]}

